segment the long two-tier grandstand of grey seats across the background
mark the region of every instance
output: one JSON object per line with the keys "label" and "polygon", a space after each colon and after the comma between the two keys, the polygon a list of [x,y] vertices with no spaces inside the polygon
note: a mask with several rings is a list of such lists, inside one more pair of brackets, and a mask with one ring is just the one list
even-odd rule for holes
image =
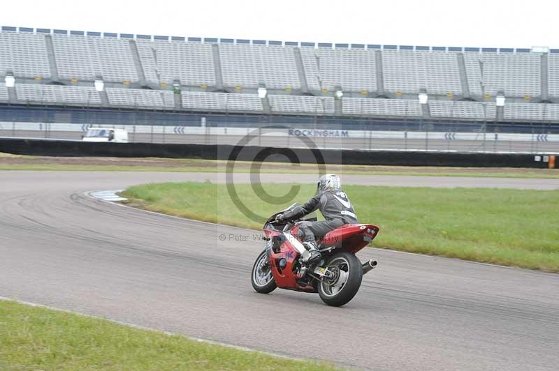
{"label": "long two-tier grandstand of grey seats across the background", "polygon": [[[559,50],[553,49],[333,45],[2,27],[0,81],[6,76],[15,84],[0,84],[0,107],[559,121]],[[419,95],[428,101],[421,104]],[[504,106],[496,104],[498,97]]]}

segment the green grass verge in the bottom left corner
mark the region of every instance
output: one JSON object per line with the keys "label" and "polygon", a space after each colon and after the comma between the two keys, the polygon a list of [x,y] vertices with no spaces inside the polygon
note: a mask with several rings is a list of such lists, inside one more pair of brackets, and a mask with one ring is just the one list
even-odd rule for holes
{"label": "green grass verge in the bottom left corner", "polygon": [[0,370],[335,370],[0,300]]}

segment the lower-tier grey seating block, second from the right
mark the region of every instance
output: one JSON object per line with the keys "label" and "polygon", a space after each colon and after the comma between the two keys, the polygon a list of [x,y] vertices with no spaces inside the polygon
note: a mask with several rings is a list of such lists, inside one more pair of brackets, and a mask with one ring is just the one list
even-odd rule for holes
{"label": "lower-tier grey seating block, second from the right", "polygon": [[484,103],[459,102],[449,100],[430,100],[429,110],[433,117],[447,117],[450,119],[495,119],[495,103],[488,102],[484,113]]}

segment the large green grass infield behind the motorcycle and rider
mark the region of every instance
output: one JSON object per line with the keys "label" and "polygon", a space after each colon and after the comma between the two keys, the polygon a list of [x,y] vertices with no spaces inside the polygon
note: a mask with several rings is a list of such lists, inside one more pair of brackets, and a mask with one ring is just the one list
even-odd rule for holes
{"label": "large green grass infield behind the motorcycle and rider", "polygon": [[[268,216],[291,203],[263,202],[252,185],[235,185],[238,199]],[[270,195],[291,185],[264,184]],[[375,246],[476,262],[559,272],[559,192],[486,188],[393,188],[347,185],[361,222],[379,225]],[[294,201],[314,193],[303,185]],[[132,206],[208,222],[260,229],[228,195],[225,185],[161,183],[124,191]]]}

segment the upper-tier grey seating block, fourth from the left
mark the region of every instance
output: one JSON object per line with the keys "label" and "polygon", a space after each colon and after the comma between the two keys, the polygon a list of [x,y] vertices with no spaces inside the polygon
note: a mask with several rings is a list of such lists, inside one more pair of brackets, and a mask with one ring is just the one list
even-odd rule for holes
{"label": "upper-tier grey seating block, fourth from the left", "polygon": [[219,45],[224,86],[300,89],[293,47]]}

